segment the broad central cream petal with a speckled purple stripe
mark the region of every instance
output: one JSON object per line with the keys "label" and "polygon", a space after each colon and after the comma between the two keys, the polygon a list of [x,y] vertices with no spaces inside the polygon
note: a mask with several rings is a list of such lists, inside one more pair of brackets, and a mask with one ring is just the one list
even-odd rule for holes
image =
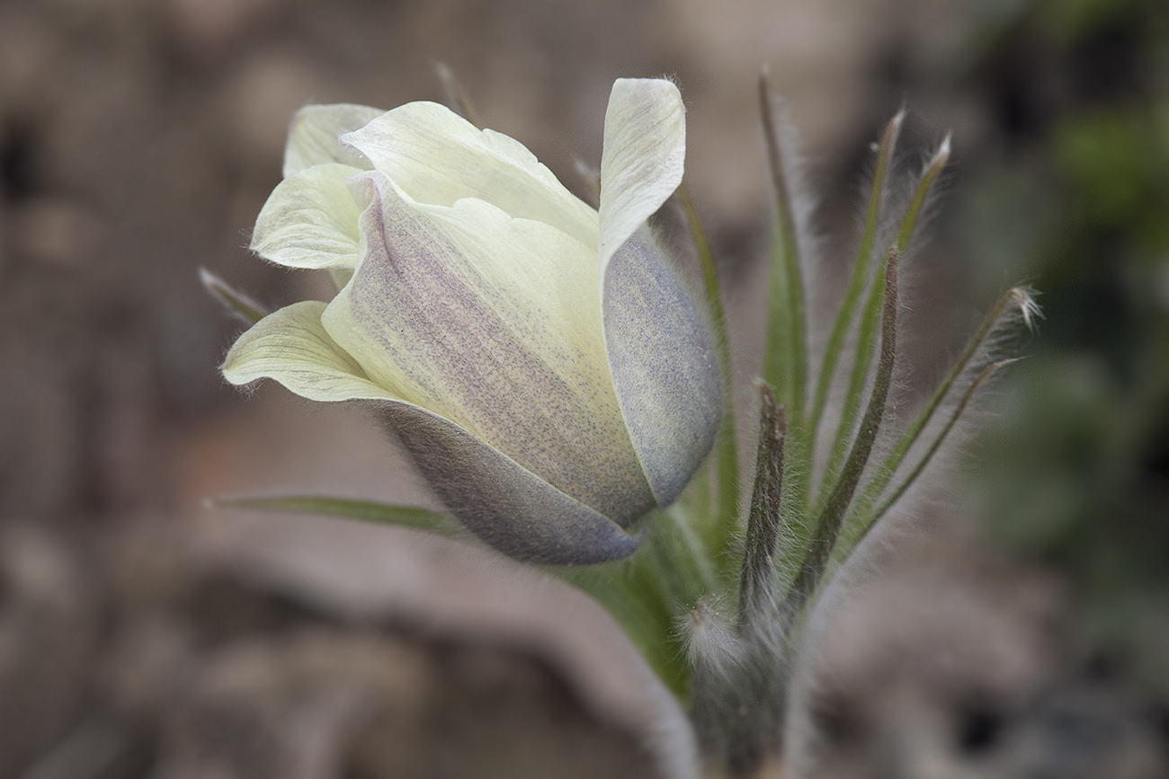
{"label": "broad central cream petal with a speckled purple stripe", "polygon": [[352,180],[362,260],[323,322],[366,375],[627,526],[652,507],[613,392],[593,252],[477,200]]}

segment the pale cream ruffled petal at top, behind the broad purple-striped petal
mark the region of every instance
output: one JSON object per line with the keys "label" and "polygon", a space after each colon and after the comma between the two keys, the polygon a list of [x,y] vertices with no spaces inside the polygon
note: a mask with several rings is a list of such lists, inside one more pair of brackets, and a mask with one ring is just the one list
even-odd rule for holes
{"label": "pale cream ruffled petal at top, behind the broad purple-striped petal", "polygon": [[445,106],[408,103],[341,140],[416,202],[454,206],[477,197],[513,217],[552,225],[590,249],[596,245],[596,211],[565,189],[532,152],[507,135],[478,130]]}

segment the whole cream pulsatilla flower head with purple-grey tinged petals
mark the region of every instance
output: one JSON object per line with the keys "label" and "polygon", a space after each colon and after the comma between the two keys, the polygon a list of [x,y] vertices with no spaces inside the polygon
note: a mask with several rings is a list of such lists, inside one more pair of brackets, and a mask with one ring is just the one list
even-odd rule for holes
{"label": "whole cream pulsatilla flower head with purple-grey tinged petals", "polygon": [[512,557],[625,556],[722,409],[707,318],[645,225],[684,157],[662,79],[613,88],[600,211],[441,105],[307,106],[251,245],[340,291],[264,317],[223,374],[373,405],[451,514]]}

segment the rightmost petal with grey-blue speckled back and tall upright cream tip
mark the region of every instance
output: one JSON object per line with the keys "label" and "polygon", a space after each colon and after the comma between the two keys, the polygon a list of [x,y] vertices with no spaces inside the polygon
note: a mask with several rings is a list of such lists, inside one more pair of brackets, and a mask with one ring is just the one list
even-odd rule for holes
{"label": "rightmost petal with grey-blue speckled back and tall upright cream tip", "polygon": [[722,390],[711,329],[645,221],[682,183],[685,107],[660,79],[618,79],[604,117],[599,273],[614,388],[659,506],[711,450]]}

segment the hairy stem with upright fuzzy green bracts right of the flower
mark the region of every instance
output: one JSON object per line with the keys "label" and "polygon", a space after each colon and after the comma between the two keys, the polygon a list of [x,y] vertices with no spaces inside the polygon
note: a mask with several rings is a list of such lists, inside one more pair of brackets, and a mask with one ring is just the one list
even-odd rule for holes
{"label": "hairy stem with upright fuzzy green bracts right of the flower", "polygon": [[[815,739],[808,704],[811,680],[801,658],[814,651],[817,625],[872,572],[851,561],[939,452],[966,438],[978,390],[999,368],[1009,335],[1039,317],[1028,287],[1005,292],[955,364],[913,418],[902,419],[901,384],[909,368],[900,348],[904,265],[949,158],[949,138],[909,187],[892,175],[899,112],[876,145],[857,259],[826,333],[809,335],[808,300],[821,287],[822,245],[810,229],[797,137],[767,83],[760,82],[763,137],[775,195],[770,301],[759,380],[760,419],[754,484],[739,540],[734,590],[698,601],[684,621],[693,665],[691,719],[708,768],[754,775],[784,756],[784,775],[804,775]],[[700,242],[701,243],[701,242]],[[821,346],[809,354],[809,345]],[[884,521],[884,522],[883,522]],[[872,534],[872,535],[871,535]],[[863,555],[862,557],[870,557]],[[845,562],[850,562],[844,569]]]}

